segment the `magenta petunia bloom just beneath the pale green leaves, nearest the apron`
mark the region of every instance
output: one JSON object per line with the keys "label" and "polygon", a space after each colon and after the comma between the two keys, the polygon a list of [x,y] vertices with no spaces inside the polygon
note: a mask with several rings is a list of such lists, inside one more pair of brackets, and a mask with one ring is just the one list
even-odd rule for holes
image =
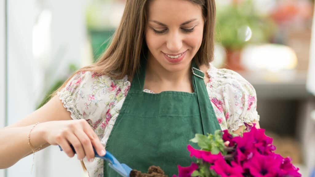
{"label": "magenta petunia bloom just beneath the pale green leaves, nearest the apron", "polygon": [[223,157],[221,152],[219,152],[219,154],[211,154],[210,151],[198,150],[190,145],[187,146],[187,149],[190,152],[190,157],[195,156],[208,163],[214,163],[218,158]]}

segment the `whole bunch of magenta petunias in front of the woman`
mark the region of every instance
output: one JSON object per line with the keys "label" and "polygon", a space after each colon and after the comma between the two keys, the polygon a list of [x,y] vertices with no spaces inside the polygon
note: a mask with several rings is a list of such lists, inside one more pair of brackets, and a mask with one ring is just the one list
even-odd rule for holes
{"label": "whole bunch of magenta petunias in front of the woman", "polygon": [[[218,100],[214,101],[218,104]],[[212,154],[211,151],[194,149],[188,145],[190,157],[198,158],[198,163],[192,163],[189,167],[178,165],[179,175],[173,177],[190,177],[195,170],[198,170],[199,174],[196,175],[199,176],[301,177],[299,168],[292,165],[289,157],[283,158],[273,152],[275,146],[272,145],[272,138],[266,136],[264,129],[255,128],[255,124],[250,126],[245,123],[245,126],[247,132],[243,133],[243,136],[233,137],[228,130],[223,130],[222,137],[215,136],[215,140],[197,140],[198,145],[207,143],[213,147],[221,138],[223,141],[229,141],[229,147],[224,147],[224,156],[221,152]]]}

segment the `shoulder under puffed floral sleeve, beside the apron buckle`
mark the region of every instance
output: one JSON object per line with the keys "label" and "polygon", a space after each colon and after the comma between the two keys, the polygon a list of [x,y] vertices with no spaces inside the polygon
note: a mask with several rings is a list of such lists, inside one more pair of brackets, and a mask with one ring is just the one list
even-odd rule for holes
{"label": "shoulder under puffed floral sleeve, beside the apron buckle", "polygon": [[[244,122],[259,121],[255,88],[236,71],[218,69],[209,64],[207,84],[216,115],[225,120],[226,128],[236,130]],[[219,121],[220,122],[220,121]]]}

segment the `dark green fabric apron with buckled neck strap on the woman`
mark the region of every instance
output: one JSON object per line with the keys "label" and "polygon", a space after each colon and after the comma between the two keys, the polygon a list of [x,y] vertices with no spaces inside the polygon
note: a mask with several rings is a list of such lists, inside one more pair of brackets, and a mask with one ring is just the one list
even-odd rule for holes
{"label": "dark green fabric apron with buckled neck strap on the woman", "polygon": [[[166,175],[178,174],[177,165],[189,166],[187,145],[195,134],[221,129],[211,106],[204,73],[192,61],[194,93],[143,92],[146,61],[142,59],[106,144],[120,163],[147,173],[160,166]],[[194,67],[194,68],[193,68]],[[195,145],[193,145],[195,146]],[[119,176],[104,161],[104,177]]]}

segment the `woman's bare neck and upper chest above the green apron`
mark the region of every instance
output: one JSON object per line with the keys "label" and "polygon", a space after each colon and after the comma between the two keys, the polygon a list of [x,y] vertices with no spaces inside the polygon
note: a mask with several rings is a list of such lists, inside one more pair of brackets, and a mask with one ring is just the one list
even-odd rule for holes
{"label": "woman's bare neck and upper chest above the green apron", "polygon": [[192,91],[192,73],[191,66],[188,65],[180,71],[168,71],[155,60],[148,52],[148,61],[146,65],[145,88],[160,92],[164,90]]}

